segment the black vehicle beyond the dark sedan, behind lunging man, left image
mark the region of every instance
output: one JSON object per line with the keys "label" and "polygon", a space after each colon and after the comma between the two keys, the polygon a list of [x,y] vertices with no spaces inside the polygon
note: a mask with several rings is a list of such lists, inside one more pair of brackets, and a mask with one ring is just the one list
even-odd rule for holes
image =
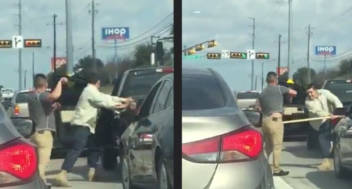
{"label": "black vehicle beyond the dark sedan, behind lunging man, left image", "polygon": [[[132,97],[137,100],[137,110],[144,101],[150,89],[163,76],[173,73],[173,67],[147,67],[130,69],[123,73],[115,81],[112,96]],[[103,147],[102,167],[112,170],[117,167],[119,154],[118,138],[134,120],[136,111],[127,109],[116,115],[114,111],[102,108],[98,115],[95,133],[98,136],[99,145]]]}

